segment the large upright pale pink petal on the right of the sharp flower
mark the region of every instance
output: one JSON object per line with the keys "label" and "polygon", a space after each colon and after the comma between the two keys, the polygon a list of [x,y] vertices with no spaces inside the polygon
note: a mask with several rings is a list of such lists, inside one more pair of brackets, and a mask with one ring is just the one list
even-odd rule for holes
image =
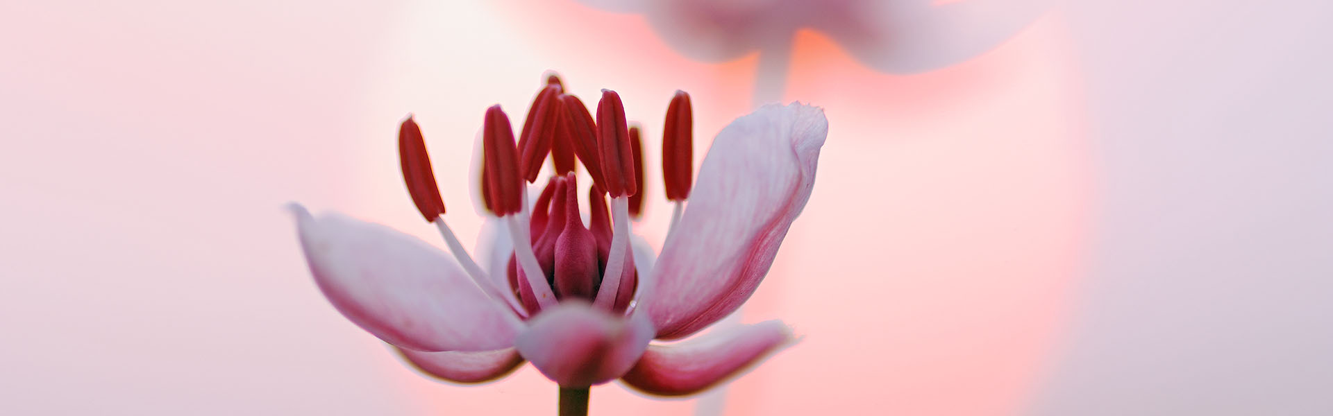
{"label": "large upright pale pink petal on the right of the sharp flower", "polygon": [[689,336],[754,293],[810,197],[826,135],[824,111],[794,103],[717,135],[645,293],[657,337]]}

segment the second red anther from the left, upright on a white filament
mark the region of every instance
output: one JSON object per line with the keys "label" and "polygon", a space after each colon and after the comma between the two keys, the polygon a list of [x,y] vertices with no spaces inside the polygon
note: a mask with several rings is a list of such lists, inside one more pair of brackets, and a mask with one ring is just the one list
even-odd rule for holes
{"label": "second red anther from the left, upright on a white filament", "polygon": [[519,177],[519,155],[513,147],[513,128],[500,104],[487,108],[483,125],[487,191],[499,216],[523,211],[523,180]]}

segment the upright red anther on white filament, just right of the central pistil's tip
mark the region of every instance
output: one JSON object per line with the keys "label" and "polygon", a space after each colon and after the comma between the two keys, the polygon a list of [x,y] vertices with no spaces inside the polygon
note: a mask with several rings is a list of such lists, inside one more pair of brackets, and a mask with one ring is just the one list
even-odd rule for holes
{"label": "upright red anther on white filament, just right of the central pistil's tip", "polygon": [[629,148],[625,105],[620,95],[611,89],[603,89],[601,101],[597,101],[597,145],[601,147],[601,177],[607,195],[635,195],[635,156]]}

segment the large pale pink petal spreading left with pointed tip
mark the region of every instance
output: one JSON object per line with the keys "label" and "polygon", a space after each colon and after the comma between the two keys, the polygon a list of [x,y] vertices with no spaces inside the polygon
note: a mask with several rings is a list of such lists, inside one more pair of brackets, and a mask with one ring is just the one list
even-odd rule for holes
{"label": "large pale pink petal spreading left with pointed tip", "polygon": [[416,351],[513,345],[523,323],[444,252],[384,225],[292,211],[315,283],[363,329]]}

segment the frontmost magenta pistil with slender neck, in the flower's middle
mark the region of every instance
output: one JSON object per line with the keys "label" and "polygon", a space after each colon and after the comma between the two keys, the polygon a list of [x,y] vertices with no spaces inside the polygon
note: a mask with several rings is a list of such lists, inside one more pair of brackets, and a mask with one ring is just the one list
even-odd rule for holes
{"label": "frontmost magenta pistil with slender neck, in the flower's middle", "polygon": [[592,300],[601,284],[597,240],[579,217],[579,185],[575,175],[565,176],[565,227],[556,239],[555,288],[561,297]]}

